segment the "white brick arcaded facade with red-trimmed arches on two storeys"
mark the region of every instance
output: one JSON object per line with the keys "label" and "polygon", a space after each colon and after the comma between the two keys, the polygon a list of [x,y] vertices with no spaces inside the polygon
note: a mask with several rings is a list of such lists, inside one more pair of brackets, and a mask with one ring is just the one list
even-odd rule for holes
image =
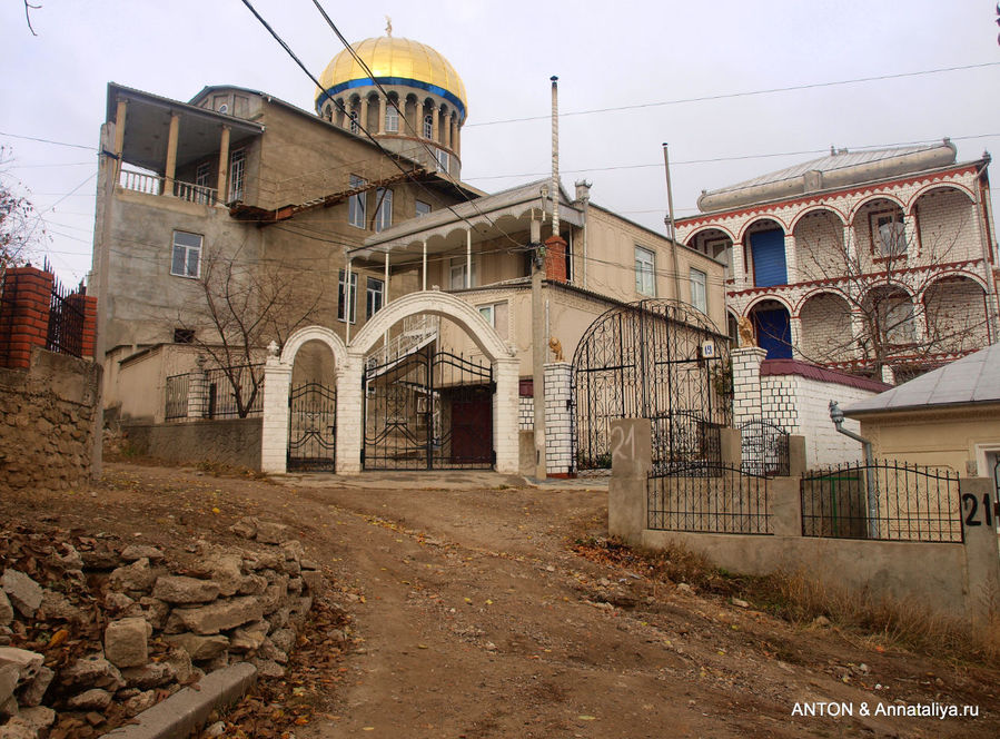
{"label": "white brick arcaded facade with red-trimmed arches on two storeys", "polygon": [[[1000,329],[998,306],[989,304],[983,287],[993,276],[984,259],[991,253],[989,239],[976,206],[980,189],[976,166],[954,166],[699,215],[681,219],[677,235],[684,244],[704,250],[716,250],[725,242],[733,245],[723,257],[731,264],[729,309],[744,316],[762,299],[779,302],[791,318],[796,357],[836,366],[857,362],[864,326],[845,316],[846,300],[839,305],[841,298],[829,294],[871,292],[891,278],[913,302],[917,338],[921,341],[927,332],[924,353],[938,361],[984,346],[991,322]],[[877,258],[881,246],[873,243],[871,217],[881,211],[898,215],[907,238],[905,255],[892,264]],[[765,225],[786,234],[786,285],[754,286],[746,235]],[[945,295],[934,287],[941,278],[964,283]],[[818,299],[819,292],[828,296]],[[924,294],[931,298],[925,316],[920,304]],[[864,295],[855,297],[860,304],[865,300]],[[937,313],[944,317],[935,323]],[[961,325],[958,331],[957,324]],[[894,359],[910,364],[921,358],[910,354],[903,348]]]}

